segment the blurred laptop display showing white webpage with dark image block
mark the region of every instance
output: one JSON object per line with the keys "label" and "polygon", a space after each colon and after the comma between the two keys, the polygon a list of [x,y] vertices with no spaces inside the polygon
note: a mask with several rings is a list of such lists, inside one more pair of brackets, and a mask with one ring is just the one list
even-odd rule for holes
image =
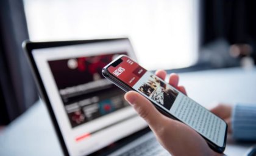
{"label": "blurred laptop display showing white webpage with dark image block", "polygon": [[92,154],[146,127],[101,74],[121,54],[135,57],[128,39],[32,50],[69,155]]}

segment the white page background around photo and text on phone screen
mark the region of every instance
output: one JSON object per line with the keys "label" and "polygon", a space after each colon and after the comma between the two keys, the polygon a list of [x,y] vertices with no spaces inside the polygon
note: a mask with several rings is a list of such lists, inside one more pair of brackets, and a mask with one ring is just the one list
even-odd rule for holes
{"label": "white page background around photo and text on phone screen", "polygon": [[[143,84],[144,82],[147,82],[147,81],[151,78],[151,77],[150,77],[151,75],[154,75],[154,74],[151,73],[151,72],[148,72],[148,71],[147,71],[146,73],[144,73],[144,75],[140,78],[140,80],[137,81],[137,83],[135,83],[135,84],[133,85],[133,89],[135,89],[135,90],[137,90],[138,92],[140,92],[140,90],[138,90],[138,89],[140,88],[141,84]],[[160,79],[160,78],[159,78],[159,79]],[[162,80],[160,80],[160,81],[162,81]],[[166,83],[165,81],[162,81],[162,82]],[[169,84],[167,84],[167,85],[168,85],[169,87],[171,87],[172,89],[175,89],[174,87],[170,86]],[[175,90],[176,90],[176,89],[175,89]],[[179,90],[177,90],[177,92],[179,92]],[[145,97],[148,98],[148,96],[147,96],[146,94],[144,94],[143,92],[140,92],[140,93],[142,93]],[[179,118],[179,117],[177,117],[177,115],[175,114],[175,111],[176,111],[176,109],[177,109],[180,105],[183,104],[183,103],[182,103],[182,98],[187,98],[187,100],[190,100],[191,102],[193,101],[193,100],[191,100],[190,98],[188,98],[187,96],[183,95],[183,93],[180,93],[180,92],[179,92],[179,94],[177,95],[176,100],[175,100],[174,103],[172,104],[170,110],[168,110],[168,109],[166,109],[165,107],[163,107],[162,104],[158,104],[157,102],[155,102],[155,103],[156,103],[158,106],[162,107],[162,108],[163,108],[164,110],[166,110],[167,112],[170,112],[170,114],[173,115],[174,117]],[[149,100],[152,101],[151,98],[149,98]],[[194,102],[194,101],[193,101],[193,102]],[[196,102],[194,102],[194,103],[196,103]],[[199,106],[199,107],[202,107],[202,106],[201,106],[200,104],[198,104],[198,103],[196,103],[196,105]],[[208,113],[208,110],[207,110],[207,109],[205,109],[204,107],[202,107],[202,108],[203,108],[203,111],[205,111],[206,113]],[[184,110],[182,110],[182,111],[184,111]],[[210,113],[210,112],[209,112],[209,113]],[[221,120],[221,118],[217,117],[216,115],[214,115],[214,114],[212,114],[212,113],[210,113],[210,114],[213,115],[214,117],[216,117],[217,120]],[[188,124],[185,120],[182,120],[182,119],[180,119],[180,118],[179,118],[179,120],[182,121],[183,123],[187,124],[188,126],[193,127],[193,129],[194,129],[195,131],[198,130],[198,129],[196,129],[195,126],[191,126],[191,124]],[[193,120],[193,119],[192,119],[192,120]],[[210,124],[212,124],[212,123],[210,123]],[[199,131],[197,131],[197,132],[199,132]],[[201,132],[199,132],[199,134],[203,135],[204,137],[208,138],[208,139],[209,139],[210,141],[212,141],[213,143],[218,144],[218,146],[221,146],[221,147],[222,147],[222,146],[223,146],[223,143],[224,143],[225,132],[226,132],[226,124],[224,123],[224,121],[221,120],[221,128],[220,128],[220,134],[219,134],[218,142],[216,142],[215,140],[212,140],[212,139],[209,138],[209,135],[211,135],[211,134],[209,134],[209,135],[207,135],[207,136],[206,136],[205,134],[202,134]]]}

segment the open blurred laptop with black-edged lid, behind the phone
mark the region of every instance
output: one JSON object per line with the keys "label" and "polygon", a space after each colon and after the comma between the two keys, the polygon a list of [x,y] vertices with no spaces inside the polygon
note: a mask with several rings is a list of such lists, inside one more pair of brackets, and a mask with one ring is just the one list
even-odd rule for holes
{"label": "open blurred laptop with black-edged lid, behind the phone", "polygon": [[23,43],[63,154],[169,155],[101,70],[135,59],[128,38]]}

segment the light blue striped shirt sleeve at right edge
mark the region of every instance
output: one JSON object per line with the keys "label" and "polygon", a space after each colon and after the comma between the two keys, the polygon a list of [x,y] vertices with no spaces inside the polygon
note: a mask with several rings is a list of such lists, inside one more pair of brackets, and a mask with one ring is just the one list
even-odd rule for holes
{"label": "light blue striped shirt sleeve at right edge", "polygon": [[256,105],[236,104],[232,110],[232,135],[235,140],[256,140]]}

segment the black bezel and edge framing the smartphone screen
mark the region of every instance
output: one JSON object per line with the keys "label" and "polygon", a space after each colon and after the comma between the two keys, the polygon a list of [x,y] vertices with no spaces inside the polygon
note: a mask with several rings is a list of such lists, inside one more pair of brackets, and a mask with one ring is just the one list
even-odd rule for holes
{"label": "black bezel and edge framing the smartphone screen", "polygon": [[[111,63],[107,64],[107,66],[105,66],[102,69],[102,75],[107,78],[108,80],[112,81],[113,84],[115,84],[116,86],[118,86],[119,88],[123,89],[125,92],[128,92],[130,90],[134,90],[135,92],[138,92],[137,90],[133,89],[132,87],[130,87],[129,85],[127,85],[126,83],[124,83],[122,80],[119,80],[118,78],[116,78],[116,76],[114,76],[112,73],[108,72],[108,67],[112,66],[113,63],[115,63],[118,59],[121,59],[122,57],[127,57],[129,59],[131,59],[129,56],[126,55],[120,55],[118,56],[118,58],[114,59]],[[132,59],[133,60],[133,59]],[[136,63],[136,61],[134,61]],[[158,76],[157,76],[158,77]],[[179,90],[177,90],[179,93]],[[140,92],[138,92],[140,93]],[[142,94],[141,94],[142,95]],[[143,95],[144,96],[144,95]],[[187,95],[185,95],[187,96]],[[146,97],[146,96],[144,96]],[[165,115],[166,117],[172,118],[174,120],[180,121],[179,118],[174,117],[173,115],[169,114],[169,112],[167,112],[166,110],[162,109],[162,107],[158,106],[157,104],[155,104],[155,102],[153,100],[151,100],[150,98],[146,97],[148,100],[151,101],[151,103],[157,108],[157,110],[159,110],[163,115]],[[222,119],[221,119],[222,120]],[[224,120],[223,120],[224,121]],[[182,122],[182,121],[180,121]],[[183,122],[182,122],[183,123]],[[224,121],[224,123],[226,123]],[[185,123],[184,123],[185,124]],[[186,124],[187,125],[187,124]],[[198,133],[198,132],[197,132]],[[199,134],[199,133],[198,133]],[[201,134],[199,134],[201,135]],[[216,151],[218,153],[223,153],[225,151],[226,148],[226,141],[227,141],[227,123],[226,123],[226,130],[225,130],[225,137],[224,137],[224,144],[222,147],[218,146],[217,144],[213,143],[212,141],[208,140],[208,138],[204,137],[203,135],[201,135],[205,141],[207,141],[208,146],[213,149],[213,151]]]}

